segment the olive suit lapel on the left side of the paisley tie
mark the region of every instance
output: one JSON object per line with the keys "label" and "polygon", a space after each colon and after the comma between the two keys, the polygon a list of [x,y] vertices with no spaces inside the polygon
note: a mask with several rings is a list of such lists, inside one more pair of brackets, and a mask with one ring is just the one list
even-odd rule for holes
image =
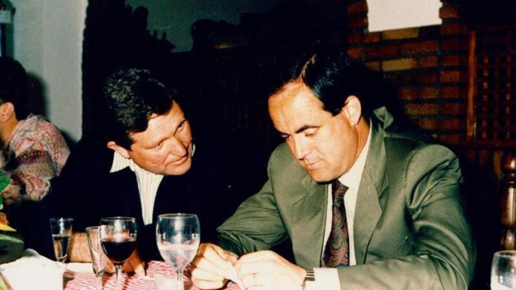
{"label": "olive suit lapel on the left side of the paisley tie", "polygon": [[304,268],[319,267],[328,186],[317,184],[308,174],[301,179],[301,184],[296,191],[304,197],[292,204],[292,246],[296,264]]}

